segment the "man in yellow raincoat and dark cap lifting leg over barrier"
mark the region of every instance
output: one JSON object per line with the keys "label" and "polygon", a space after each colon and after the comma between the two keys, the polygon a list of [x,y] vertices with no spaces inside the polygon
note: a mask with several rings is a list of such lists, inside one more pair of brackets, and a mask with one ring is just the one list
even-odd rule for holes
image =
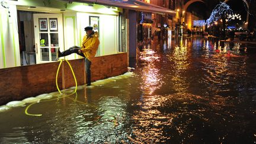
{"label": "man in yellow raincoat and dark cap lifting leg over barrier", "polygon": [[57,52],[57,58],[76,53],[79,56],[85,57],[85,68],[87,72],[87,86],[91,85],[91,60],[95,57],[100,44],[97,32],[92,30],[92,27],[85,27],[86,35],[84,36],[82,46],[73,46],[64,52]]}

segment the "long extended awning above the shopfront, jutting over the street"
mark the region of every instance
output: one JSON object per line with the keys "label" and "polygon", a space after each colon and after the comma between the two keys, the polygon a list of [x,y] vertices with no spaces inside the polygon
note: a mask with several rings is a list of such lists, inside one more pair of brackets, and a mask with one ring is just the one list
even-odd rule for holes
{"label": "long extended awning above the shopfront, jutting over the street", "polygon": [[176,14],[175,11],[157,5],[148,4],[137,0],[66,0],[69,2],[90,2],[94,4],[109,5],[119,8],[133,9],[143,12],[155,12],[161,14]]}

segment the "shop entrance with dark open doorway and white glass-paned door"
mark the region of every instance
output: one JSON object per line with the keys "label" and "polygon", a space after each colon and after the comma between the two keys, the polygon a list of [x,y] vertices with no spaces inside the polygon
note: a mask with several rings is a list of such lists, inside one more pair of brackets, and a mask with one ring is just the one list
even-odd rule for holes
{"label": "shop entrance with dark open doorway and white glass-paned door", "polygon": [[63,14],[43,7],[17,6],[17,10],[21,66],[55,61],[57,48],[64,49]]}

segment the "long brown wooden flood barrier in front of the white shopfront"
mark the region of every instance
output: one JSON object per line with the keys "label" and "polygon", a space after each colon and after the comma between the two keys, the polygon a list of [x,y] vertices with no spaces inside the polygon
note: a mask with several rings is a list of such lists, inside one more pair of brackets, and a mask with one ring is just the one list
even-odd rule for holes
{"label": "long brown wooden flood barrier in front of the white shopfront", "polygon": [[[75,72],[78,85],[84,85],[86,81],[84,59],[69,60],[69,62]],[[0,69],[0,105],[57,91],[55,78],[58,66],[59,62],[51,62]],[[125,72],[127,72],[127,53],[100,56],[92,60],[92,82]],[[75,86],[73,75],[66,62],[59,72],[58,84],[60,89]]]}

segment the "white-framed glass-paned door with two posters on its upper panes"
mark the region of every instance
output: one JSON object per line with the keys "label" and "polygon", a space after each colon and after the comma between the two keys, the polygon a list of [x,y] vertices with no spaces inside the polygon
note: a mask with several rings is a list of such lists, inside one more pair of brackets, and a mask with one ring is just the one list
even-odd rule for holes
{"label": "white-framed glass-paned door with two posters on its upper panes", "polygon": [[37,63],[52,62],[63,47],[62,14],[34,14]]}

